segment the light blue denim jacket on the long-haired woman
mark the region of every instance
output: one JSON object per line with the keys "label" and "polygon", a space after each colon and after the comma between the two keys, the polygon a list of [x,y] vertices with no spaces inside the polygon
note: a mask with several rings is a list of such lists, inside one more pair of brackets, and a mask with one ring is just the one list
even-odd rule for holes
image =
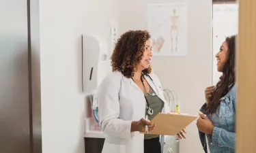
{"label": "light blue denim jacket on the long-haired woman", "polygon": [[[229,86],[230,90],[220,99],[221,103],[218,105],[216,112],[208,118],[214,125],[212,135],[206,135],[211,153],[234,153],[236,141],[236,85]],[[203,104],[200,111],[206,107]],[[207,144],[205,133],[199,131],[199,137],[205,153],[207,151]]]}

